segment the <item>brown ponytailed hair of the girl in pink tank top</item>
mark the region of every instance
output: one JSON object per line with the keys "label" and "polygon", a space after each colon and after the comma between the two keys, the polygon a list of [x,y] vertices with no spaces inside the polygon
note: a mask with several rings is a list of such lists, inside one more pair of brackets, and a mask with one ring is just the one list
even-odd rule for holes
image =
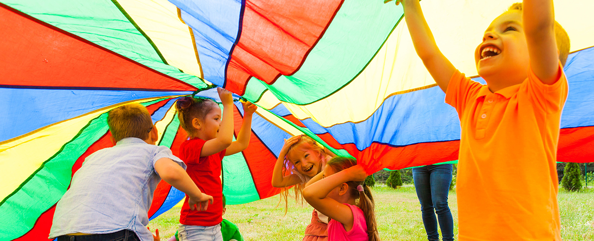
{"label": "brown ponytailed hair of the girl in pink tank top", "polygon": [[[353,158],[339,156],[330,159],[326,164],[332,167],[334,172],[340,172],[355,166],[357,163]],[[349,185],[350,196],[356,199],[355,204],[357,207],[361,208],[361,211],[363,211],[365,223],[367,224],[369,241],[380,241],[380,234],[377,232],[377,223],[375,222],[375,202],[373,200],[373,195],[371,195],[371,190],[365,185],[365,181],[349,181],[346,182],[346,184]],[[359,185],[363,186],[362,192],[357,190]]]}

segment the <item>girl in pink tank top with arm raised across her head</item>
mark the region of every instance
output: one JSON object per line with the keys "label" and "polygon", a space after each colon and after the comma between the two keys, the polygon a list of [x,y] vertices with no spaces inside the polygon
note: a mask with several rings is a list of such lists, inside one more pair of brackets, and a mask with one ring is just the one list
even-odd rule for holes
{"label": "girl in pink tank top with arm raised across her head", "polygon": [[320,180],[312,180],[303,191],[305,200],[331,218],[328,240],[380,241],[375,223],[374,201],[364,186],[367,173],[355,160],[334,157]]}

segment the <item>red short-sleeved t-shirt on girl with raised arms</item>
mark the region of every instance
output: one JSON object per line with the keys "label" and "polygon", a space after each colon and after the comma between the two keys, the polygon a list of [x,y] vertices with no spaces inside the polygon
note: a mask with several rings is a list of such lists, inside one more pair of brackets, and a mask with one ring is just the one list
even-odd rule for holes
{"label": "red short-sleeved t-shirt on girl with raised arms", "polygon": [[192,211],[188,205],[188,195],[184,200],[179,223],[192,226],[215,226],[223,221],[223,185],[221,183],[221,162],[225,150],[200,157],[204,146],[203,139],[189,138],[179,147],[179,158],[188,166],[186,172],[204,194],[213,196],[214,203],[208,204],[206,211]]}

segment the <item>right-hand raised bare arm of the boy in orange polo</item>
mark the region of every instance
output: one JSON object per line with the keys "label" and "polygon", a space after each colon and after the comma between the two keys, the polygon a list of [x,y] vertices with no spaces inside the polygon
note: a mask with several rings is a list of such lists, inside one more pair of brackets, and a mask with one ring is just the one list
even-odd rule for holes
{"label": "right-hand raised bare arm of the boy in orange polo", "polygon": [[553,1],[524,0],[522,8],[530,68],[542,83],[554,84],[559,77],[559,55]]}

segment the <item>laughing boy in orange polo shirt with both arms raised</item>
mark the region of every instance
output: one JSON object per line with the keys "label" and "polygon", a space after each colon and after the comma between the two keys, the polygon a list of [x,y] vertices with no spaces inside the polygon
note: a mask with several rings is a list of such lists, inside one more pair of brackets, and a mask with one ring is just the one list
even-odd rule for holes
{"label": "laughing boy in orange polo shirt with both arms raised", "polygon": [[525,0],[492,21],[475,51],[486,85],[440,52],[418,0],[399,3],[417,54],[462,125],[459,239],[561,240],[555,161],[569,37],[552,1]]}

